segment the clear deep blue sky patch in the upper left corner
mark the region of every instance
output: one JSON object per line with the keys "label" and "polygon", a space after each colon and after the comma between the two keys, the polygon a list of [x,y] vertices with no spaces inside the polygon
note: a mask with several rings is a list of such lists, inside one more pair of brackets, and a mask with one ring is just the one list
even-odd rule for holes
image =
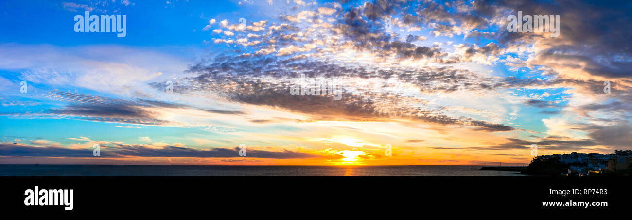
{"label": "clear deep blue sky patch in the upper left corner", "polygon": [[[47,43],[53,45],[73,46],[86,44],[117,44],[138,47],[156,47],[162,45],[198,45],[205,40],[207,33],[193,30],[201,29],[200,25],[208,23],[208,16],[226,16],[226,10],[238,8],[236,4],[226,1],[199,1],[195,3],[173,4],[141,4],[143,6],[110,3],[107,7],[99,7],[92,14],[127,14],[129,35],[125,38],[112,38],[112,33],[80,34],[73,30],[73,17],[83,14],[83,8],[64,8],[64,2],[33,1],[25,7],[20,1],[3,1],[0,3],[3,20],[20,21],[2,24],[3,30],[20,30],[6,32],[3,42]],[[155,2],[154,2],[155,3]],[[81,4],[81,3],[78,3]],[[89,5],[83,3],[81,5]],[[101,13],[107,10],[110,13]],[[69,19],[70,18],[70,19]]]}

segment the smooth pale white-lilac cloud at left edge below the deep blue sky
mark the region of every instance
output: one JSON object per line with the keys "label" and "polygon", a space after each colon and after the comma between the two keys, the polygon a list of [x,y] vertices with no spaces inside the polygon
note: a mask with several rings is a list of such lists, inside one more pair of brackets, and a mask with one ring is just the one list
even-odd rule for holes
{"label": "smooth pale white-lilac cloud at left edge below the deep blue sky", "polygon": [[161,52],[116,45],[60,47],[0,44],[0,69],[19,71],[29,83],[76,86],[114,94],[130,94],[159,77],[179,73],[186,62]]}

